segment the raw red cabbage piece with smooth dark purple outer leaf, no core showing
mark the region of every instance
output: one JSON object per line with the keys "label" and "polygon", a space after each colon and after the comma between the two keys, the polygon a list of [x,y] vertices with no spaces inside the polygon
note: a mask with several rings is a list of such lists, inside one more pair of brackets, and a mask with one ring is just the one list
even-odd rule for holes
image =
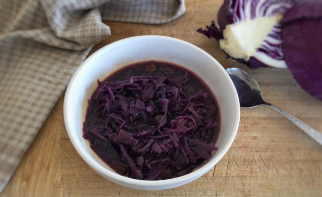
{"label": "raw red cabbage piece with smooth dark purple outer leaf, no core showing", "polygon": [[322,99],[322,1],[306,1],[289,9],[282,23],[282,49],[296,81]]}

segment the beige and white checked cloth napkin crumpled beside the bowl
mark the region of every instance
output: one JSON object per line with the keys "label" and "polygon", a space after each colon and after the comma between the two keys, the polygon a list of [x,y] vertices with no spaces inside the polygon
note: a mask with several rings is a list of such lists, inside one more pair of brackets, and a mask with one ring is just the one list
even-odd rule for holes
{"label": "beige and white checked cloth napkin crumpled beside the bowl", "polygon": [[110,35],[103,20],[166,23],[184,0],[0,0],[0,192],[74,71]]}

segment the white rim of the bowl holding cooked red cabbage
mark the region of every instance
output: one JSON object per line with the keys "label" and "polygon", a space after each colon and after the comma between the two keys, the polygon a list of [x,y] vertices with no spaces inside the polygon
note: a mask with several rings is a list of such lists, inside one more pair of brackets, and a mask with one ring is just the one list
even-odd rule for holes
{"label": "white rim of the bowl holding cooked red cabbage", "polygon": [[[117,174],[115,172],[111,172],[108,169],[106,169],[104,166],[92,161],[92,158],[90,158],[86,153],[84,153],[82,151],[82,146],[80,143],[78,143],[78,141],[76,140],[76,138],[74,136],[76,136],[77,132],[73,132],[73,130],[71,129],[71,123],[69,122],[69,115],[67,113],[67,109],[68,109],[68,103],[70,102],[69,98],[70,95],[72,94],[72,86],[75,83],[76,77],[77,75],[79,75],[82,71],[82,69],[86,66],[88,66],[88,64],[95,60],[95,58],[97,58],[97,56],[100,56],[100,54],[111,47],[117,46],[119,44],[122,44],[124,42],[128,42],[130,40],[135,40],[135,39],[161,39],[161,40],[169,40],[171,42],[174,43],[180,43],[183,44],[189,48],[193,48],[194,50],[198,50],[200,52],[202,52],[204,55],[208,56],[209,58],[212,58],[215,63],[218,65],[219,69],[222,71],[222,73],[225,75],[225,77],[228,79],[228,85],[231,86],[231,89],[233,90],[233,96],[234,96],[234,105],[236,106],[236,118],[234,120],[234,126],[233,126],[233,131],[232,134],[229,136],[229,140],[228,143],[224,145],[224,147],[222,147],[222,151],[214,158],[211,158],[206,164],[204,164],[202,167],[186,174],[180,177],[176,177],[176,178],[171,178],[171,179],[166,179],[166,180],[137,180],[137,179],[133,179],[133,178],[129,178],[120,174]],[[184,65],[182,65],[184,66]],[[184,185],[185,183],[179,184],[180,182],[183,182],[185,180],[191,180],[194,178],[199,178],[200,176],[204,175],[205,173],[207,173],[211,168],[213,168],[215,166],[215,164],[217,164],[217,162],[226,154],[226,152],[228,151],[228,149],[231,147],[237,131],[238,131],[238,126],[239,126],[239,121],[240,121],[240,106],[239,106],[239,100],[238,100],[238,95],[236,92],[236,89],[233,85],[233,82],[231,81],[229,75],[226,73],[225,69],[221,66],[221,64],[213,57],[211,56],[209,53],[207,53],[205,50],[191,44],[188,43],[186,41],[183,40],[179,40],[176,38],[171,38],[171,37],[166,37],[166,36],[158,36],[158,35],[145,35],[145,36],[134,36],[134,37],[129,37],[129,38],[125,38],[125,39],[121,39],[118,41],[115,41],[113,43],[110,43],[106,46],[104,46],[103,48],[95,51],[93,54],[91,54],[87,59],[85,59],[85,61],[83,61],[80,66],[77,68],[76,72],[73,74],[66,92],[65,92],[65,96],[64,96],[64,102],[63,102],[63,116],[64,116],[64,122],[65,122],[65,127],[67,130],[67,134],[69,136],[69,139],[73,145],[73,147],[76,149],[76,151],[78,152],[78,154],[82,157],[82,159],[91,167],[93,168],[96,172],[98,172],[100,175],[104,176],[104,177],[108,177],[108,179],[110,181],[115,181],[117,183],[122,182],[126,185],[136,185],[136,186],[144,186],[144,187],[152,187],[152,186],[165,186],[165,185],[173,185],[174,187],[178,187],[181,185]],[[190,181],[188,181],[190,182]],[[129,187],[129,186],[128,186]]]}

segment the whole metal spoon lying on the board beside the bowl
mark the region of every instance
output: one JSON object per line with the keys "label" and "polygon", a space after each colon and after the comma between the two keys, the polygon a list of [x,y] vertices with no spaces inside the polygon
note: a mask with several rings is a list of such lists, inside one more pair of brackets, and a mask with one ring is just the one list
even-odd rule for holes
{"label": "whole metal spoon lying on the board beside the bowl", "polygon": [[247,72],[239,68],[228,68],[226,69],[226,71],[236,87],[240,106],[242,108],[251,108],[256,107],[258,105],[266,105],[283,115],[285,118],[289,119],[292,123],[294,123],[306,134],[308,134],[312,139],[314,139],[320,145],[322,145],[322,133],[313,129],[312,127],[305,124],[300,119],[292,116],[283,109],[268,102],[265,102],[262,99],[260,86],[258,85],[257,81]]}

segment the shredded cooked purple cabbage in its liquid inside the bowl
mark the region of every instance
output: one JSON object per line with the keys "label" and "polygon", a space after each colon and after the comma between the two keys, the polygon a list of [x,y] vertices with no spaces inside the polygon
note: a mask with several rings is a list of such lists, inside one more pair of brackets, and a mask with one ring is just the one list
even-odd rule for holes
{"label": "shredded cooked purple cabbage in its liquid inside the bowl", "polygon": [[117,173],[163,180],[211,157],[218,119],[214,96],[195,74],[170,63],[140,62],[99,82],[83,137]]}

